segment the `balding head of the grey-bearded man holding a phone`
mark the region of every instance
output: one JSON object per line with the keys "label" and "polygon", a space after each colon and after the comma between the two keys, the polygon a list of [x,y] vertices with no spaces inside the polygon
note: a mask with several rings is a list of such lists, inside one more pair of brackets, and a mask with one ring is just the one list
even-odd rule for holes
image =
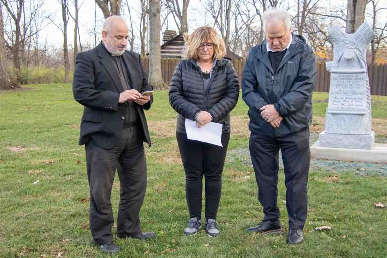
{"label": "balding head of the grey-bearded man holding a phone", "polygon": [[105,20],[102,28],[102,41],[112,55],[122,55],[127,46],[129,28],[122,17],[113,15]]}

